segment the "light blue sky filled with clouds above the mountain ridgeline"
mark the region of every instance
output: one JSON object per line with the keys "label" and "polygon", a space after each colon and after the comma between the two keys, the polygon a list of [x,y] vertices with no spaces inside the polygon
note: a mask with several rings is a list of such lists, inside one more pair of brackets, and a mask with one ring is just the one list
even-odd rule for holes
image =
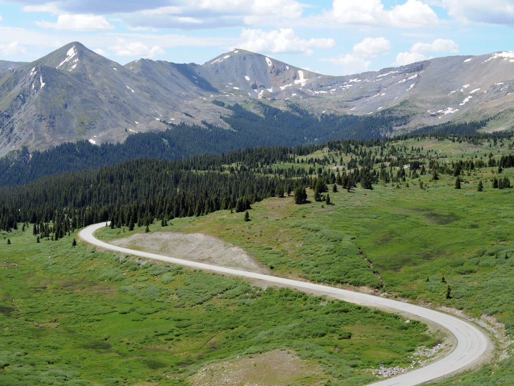
{"label": "light blue sky filled with clouds above the mountain ridgeline", "polygon": [[0,0],[0,59],[79,41],[125,64],[244,48],[322,74],[514,50],[514,0]]}

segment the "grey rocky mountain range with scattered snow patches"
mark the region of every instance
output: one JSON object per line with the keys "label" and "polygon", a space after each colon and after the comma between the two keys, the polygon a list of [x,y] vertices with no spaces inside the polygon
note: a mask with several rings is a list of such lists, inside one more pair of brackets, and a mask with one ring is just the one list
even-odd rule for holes
{"label": "grey rocky mountain range with scattered snow patches", "polygon": [[223,103],[252,109],[260,100],[309,113],[408,116],[395,131],[454,121],[490,120],[510,128],[514,53],[429,59],[351,76],[321,75],[233,49],[198,65],[139,59],[120,65],[81,43],[31,63],[0,61],[0,155],[87,139],[122,141],[165,124],[230,129]]}

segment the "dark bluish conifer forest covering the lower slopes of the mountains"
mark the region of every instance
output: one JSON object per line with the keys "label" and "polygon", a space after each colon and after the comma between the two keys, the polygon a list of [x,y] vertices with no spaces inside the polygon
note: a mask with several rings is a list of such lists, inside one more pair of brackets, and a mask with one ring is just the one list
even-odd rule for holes
{"label": "dark bluish conifer forest covering the lower slopes of the mountains", "polygon": [[256,108],[261,114],[249,112],[238,104],[228,108],[233,114],[223,119],[233,130],[207,123],[205,127],[167,124],[168,130],[130,135],[118,144],[96,146],[79,141],[32,153],[24,148],[0,160],[0,186],[25,184],[64,171],[98,169],[141,157],[178,160],[196,154],[221,154],[249,147],[290,147],[341,138],[367,140],[390,133],[392,125],[405,120],[405,117],[386,112],[364,117],[317,117],[294,104],[290,104],[289,110],[282,111],[258,103]]}

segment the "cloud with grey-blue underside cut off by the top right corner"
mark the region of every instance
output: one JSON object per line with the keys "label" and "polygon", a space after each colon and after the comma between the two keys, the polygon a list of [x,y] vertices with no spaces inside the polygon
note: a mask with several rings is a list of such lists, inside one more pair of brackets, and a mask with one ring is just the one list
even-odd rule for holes
{"label": "cloud with grey-blue underside cut off by the top right corner", "polygon": [[514,26],[512,0],[443,0],[448,14],[461,23],[487,23]]}

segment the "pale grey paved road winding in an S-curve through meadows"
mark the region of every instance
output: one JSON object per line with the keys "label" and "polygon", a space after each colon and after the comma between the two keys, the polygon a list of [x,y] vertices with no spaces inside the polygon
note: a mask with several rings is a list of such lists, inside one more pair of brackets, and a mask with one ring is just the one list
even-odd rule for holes
{"label": "pale grey paved road winding in an S-curve through meadows", "polygon": [[479,360],[488,349],[488,339],[480,329],[462,319],[458,319],[443,312],[416,306],[410,303],[398,302],[391,299],[384,299],[383,297],[379,296],[323,286],[320,284],[300,282],[298,280],[286,279],[283,277],[240,271],[237,269],[218,267],[196,261],[157,255],[155,253],[121,248],[117,245],[108,244],[98,240],[93,235],[94,232],[100,229],[102,226],[105,226],[105,223],[89,225],[79,232],[79,236],[91,244],[112,251],[146,257],[149,259],[167,261],[181,266],[226,273],[241,277],[250,277],[252,279],[265,280],[266,282],[277,283],[298,289],[306,289],[318,293],[321,292],[333,297],[337,297],[337,299],[344,300],[348,303],[357,303],[369,307],[387,307],[393,310],[408,312],[439,324],[440,326],[448,329],[455,336],[457,341],[456,347],[445,358],[442,358],[427,366],[420,367],[419,369],[413,370],[411,372],[402,373],[395,377],[371,383],[369,386],[415,386],[418,384],[426,383],[446,375],[456,373],[459,370],[468,367],[473,362]]}

